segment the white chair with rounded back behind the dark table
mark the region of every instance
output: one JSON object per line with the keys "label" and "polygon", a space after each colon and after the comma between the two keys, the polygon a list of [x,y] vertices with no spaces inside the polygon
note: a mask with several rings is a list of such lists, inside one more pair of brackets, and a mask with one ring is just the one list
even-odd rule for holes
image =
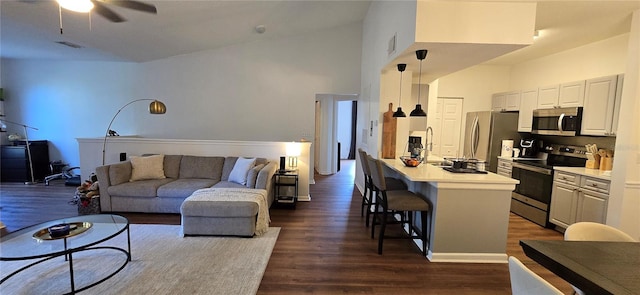
{"label": "white chair with rounded back behind the dark table", "polygon": [[[564,232],[565,241],[600,241],[600,242],[636,242],[627,233],[597,222],[576,222],[567,227]],[[579,288],[571,285],[574,294],[584,295]]]}

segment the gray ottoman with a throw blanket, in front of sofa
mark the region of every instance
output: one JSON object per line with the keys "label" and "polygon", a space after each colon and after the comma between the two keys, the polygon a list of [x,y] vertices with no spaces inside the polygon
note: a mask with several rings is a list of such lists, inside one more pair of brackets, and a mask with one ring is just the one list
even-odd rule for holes
{"label": "gray ottoman with a throw blanket, in front of sofa", "polygon": [[251,194],[242,194],[243,198],[234,197],[234,194],[238,193],[239,191],[232,189],[205,189],[196,191],[186,198],[180,206],[183,236],[253,237],[261,210],[259,202],[246,198]]}

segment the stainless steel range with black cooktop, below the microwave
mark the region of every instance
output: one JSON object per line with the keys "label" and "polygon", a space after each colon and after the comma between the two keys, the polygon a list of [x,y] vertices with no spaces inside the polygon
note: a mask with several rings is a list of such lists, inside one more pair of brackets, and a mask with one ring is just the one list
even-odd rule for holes
{"label": "stainless steel range with black cooktop, below the microwave", "polygon": [[584,167],[586,148],[551,145],[541,159],[513,160],[511,177],[520,184],[511,193],[511,212],[541,226],[553,227],[549,222],[553,166]]}

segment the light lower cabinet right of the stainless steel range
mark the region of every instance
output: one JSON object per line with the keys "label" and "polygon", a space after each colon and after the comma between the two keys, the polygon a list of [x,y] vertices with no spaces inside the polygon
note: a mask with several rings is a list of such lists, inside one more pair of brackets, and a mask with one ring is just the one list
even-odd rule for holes
{"label": "light lower cabinet right of the stainless steel range", "polygon": [[556,172],[549,221],[562,228],[581,221],[605,223],[609,184],[599,178]]}

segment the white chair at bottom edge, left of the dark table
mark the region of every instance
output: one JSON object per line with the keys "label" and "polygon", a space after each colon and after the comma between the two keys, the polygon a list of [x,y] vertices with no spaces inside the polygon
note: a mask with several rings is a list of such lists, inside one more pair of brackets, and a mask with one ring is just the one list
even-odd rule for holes
{"label": "white chair at bottom edge, left of the dark table", "polygon": [[563,294],[514,256],[509,256],[509,278],[511,279],[511,294],[513,295]]}

